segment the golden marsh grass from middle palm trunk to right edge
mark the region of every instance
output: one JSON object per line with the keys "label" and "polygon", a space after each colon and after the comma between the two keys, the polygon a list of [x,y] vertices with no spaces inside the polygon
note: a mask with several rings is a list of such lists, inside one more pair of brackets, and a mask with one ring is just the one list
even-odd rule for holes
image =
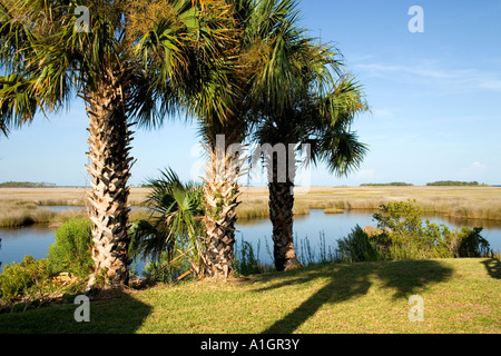
{"label": "golden marsh grass from middle palm trunk to right edge", "polygon": [[[238,218],[267,218],[266,190],[247,190],[237,210]],[[501,188],[493,187],[314,187],[306,195],[295,196],[294,214],[308,215],[310,209],[324,209],[325,214],[376,211],[382,205],[409,199],[415,199],[426,215],[501,221]]]}

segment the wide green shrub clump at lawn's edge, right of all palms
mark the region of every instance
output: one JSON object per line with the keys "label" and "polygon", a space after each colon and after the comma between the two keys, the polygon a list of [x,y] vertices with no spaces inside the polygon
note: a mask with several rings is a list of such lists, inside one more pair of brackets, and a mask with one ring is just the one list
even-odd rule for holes
{"label": "wide green shrub clump at lawn's edge, right of all palms", "polygon": [[[412,201],[394,201],[374,214],[377,228],[356,226],[337,241],[338,258],[345,261],[460,258],[492,256],[482,228],[460,230],[445,225],[423,222],[421,209]],[[370,233],[370,234],[369,234]]]}

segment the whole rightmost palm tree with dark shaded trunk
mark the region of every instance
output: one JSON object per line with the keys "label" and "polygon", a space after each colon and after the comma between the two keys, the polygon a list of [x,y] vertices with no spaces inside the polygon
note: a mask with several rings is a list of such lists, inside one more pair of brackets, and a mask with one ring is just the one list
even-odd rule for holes
{"label": "whole rightmost palm tree with dark shaded trunk", "polygon": [[[312,41],[312,40],[310,40]],[[254,134],[259,145],[310,145],[310,162],[323,161],[331,172],[347,175],[361,164],[366,146],[351,131],[354,117],[367,109],[361,87],[342,73],[337,53],[311,42],[310,53],[295,63],[303,70],[295,87],[283,88],[295,98],[282,110],[263,105],[261,122]],[[335,80],[334,73],[340,75]],[[264,109],[263,109],[264,108]],[[268,170],[269,218],[273,224],[274,260],[277,270],[301,266],[293,239],[294,180],[298,162],[295,156],[278,157],[276,151],[262,152]],[[278,165],[278,159],[285,160]],[[279,171],[283,169],[283,171]]]}

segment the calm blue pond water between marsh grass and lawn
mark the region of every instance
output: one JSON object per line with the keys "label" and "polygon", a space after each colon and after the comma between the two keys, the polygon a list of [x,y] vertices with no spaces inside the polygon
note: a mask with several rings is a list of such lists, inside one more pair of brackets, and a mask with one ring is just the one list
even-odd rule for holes
{"label": "calm blue pond water between marsh grass and lawn", "polygon": [[[49,207],[47,207],[49,208]],[[76,209],[80,207],[58,207],[58,209]],[[469,226],[484,227],[482,236],[490,243],[495,251],[501,250],[501,221],[448,221],[440,217],[429,218],[432,222],[444,224],[451,228]],[[306,239],[314,254],[321,250],[321,236],[325,237],[326,251],[334,253],[336,240],[346,237],[356,226],[375,225],[372,212],[345,211],[344,214],[326,215],[323,210],[311,210],[310,215],[294,218],[294,236],[297,253],[304,251]],[[43,226],[30,226],[18,229],[0,229],[0,261],[2,265],[21,261],[26,255],[37,259],[46,258],[49,245],[55,241],[55,229]],[[268,219],[239,221],[236,233],[237,247],[242,240],[253,245],[254,251],[264,264],[272,264],[272,222]],[[267,246],[266,246],[267,245]],[[268,248],[267,248],[268,247]],[[143,264],[137,264],[137,270],[143,269]],[[0,267],[1,271],[1,267]]]}

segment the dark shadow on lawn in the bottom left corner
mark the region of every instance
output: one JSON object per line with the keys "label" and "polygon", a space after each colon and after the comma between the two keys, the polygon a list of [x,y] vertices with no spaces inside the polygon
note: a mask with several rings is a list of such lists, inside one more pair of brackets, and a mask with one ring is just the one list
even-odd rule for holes
{"label": "dark shadow on lawn in the bottom left corner", "polygon": [[91,300],[89,322],[75,319],[80,306],[69,303],[0,315],[0,334],[134,334],[151,312],[126,291]]}

